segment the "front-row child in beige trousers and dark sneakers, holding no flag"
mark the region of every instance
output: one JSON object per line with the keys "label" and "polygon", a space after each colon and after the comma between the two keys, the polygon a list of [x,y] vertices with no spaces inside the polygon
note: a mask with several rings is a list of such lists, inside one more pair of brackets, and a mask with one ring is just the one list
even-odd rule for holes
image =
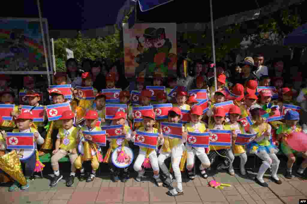
{"label": "front-row child in beige trousers and dark sneakers, holding no flag", "polygon": [[71,163],[71,172],[66,180],[66,186],[72,186],[74,184],[74,178],[76,175],[75,160],[78,157],[77,145],[79,142],[78,133],[79,128],[73,126],[75,114],[71,110],[67,110],[62,114],[60,120],[63,122],[62,128],[59,129],[59,133],[56,136],[56,148],[52,151],[51,166],[54,171],[54,177],[50,183],[50,186],[55,186],[63,176],[59,171],[59,160],[64,156],[69,156]]}

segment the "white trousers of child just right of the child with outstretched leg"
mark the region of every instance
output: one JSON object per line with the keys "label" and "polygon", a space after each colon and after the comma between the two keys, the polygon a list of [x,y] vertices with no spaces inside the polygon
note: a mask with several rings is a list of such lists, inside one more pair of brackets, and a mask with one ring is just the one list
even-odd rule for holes
{"label": "white trousers of child just right of the child with outstretched leg", "polygon": [[198,159],[200,160],[201,164],[199,166],[199,169],[204,169],[204,168],[208,168],[210,167],[210,160],[206,154],[205,148],[191,148],[188,147],[187,148],[187,166],[194,166],[194,160],[195,160],[195,155],[198,157]]}

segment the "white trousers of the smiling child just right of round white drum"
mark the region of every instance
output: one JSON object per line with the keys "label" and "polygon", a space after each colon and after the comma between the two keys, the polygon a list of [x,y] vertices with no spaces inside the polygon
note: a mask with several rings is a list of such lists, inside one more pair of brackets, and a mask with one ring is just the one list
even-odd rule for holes
{"label": "white trousers of the smiling child just right of round white drum", "polygon": [[[137,171],[137,172],[142,171],[142,164],[145,158],[146,158],[146,152],[140,149],[138,153],[138,157],[136,158],[134,165],[133,165],[134,171]],[[150,152],[148,158],[150,160],[150,164],[151,164],[151,167],[153,168],[153,171],[159,171],[157,152],[153,150],[152,152]]]}

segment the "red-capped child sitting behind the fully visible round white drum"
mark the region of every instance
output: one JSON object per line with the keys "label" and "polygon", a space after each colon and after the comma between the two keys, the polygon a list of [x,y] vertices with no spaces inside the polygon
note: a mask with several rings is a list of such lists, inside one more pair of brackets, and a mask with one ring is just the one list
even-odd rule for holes
{"label": "red-capped child sitting behind the fully visible round white drum", "polygon": [[[129,147],[129,141],[131,139],[131,129],[128,125],[125,125],[125,121],[127,119],[127,114],[118,111],[116,112],[115,116],[111,119],[112,123],[111,125],[123,125],[123,134],[125,135],[125,138],[119,138],[119,139],[107,139],[110,142],[110,148],[111,152],[113,152],[116,148],[119,146],[126,146]],[[111,153],[112,154],[112,153]],[[111,171],[111,179],[114,182],[118,182],[119,177],[118,174],[120,173],[121,181],[126,182],[129,179],[129,167],[123,168],[122,170],[118,167],[116,167],[111,160],[109,160],[109,166]],[[121,171],[121,172],[119,172]]]}

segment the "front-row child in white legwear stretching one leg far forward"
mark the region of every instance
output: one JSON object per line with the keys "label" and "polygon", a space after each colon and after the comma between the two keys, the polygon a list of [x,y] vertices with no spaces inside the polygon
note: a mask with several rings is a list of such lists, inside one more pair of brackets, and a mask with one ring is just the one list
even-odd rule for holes
{"label": "front-row child in white legwear stretching one leg far forward", "polygon": [[[168,122],[170,123],[178,123],[181,117],[181,110],[178,107],[174,107],[169,110],[168,113]],[[184,127],[182,127],[182,139],[173,138],[173,137],[164,137],[161,140],[162,148],[160,150],[160,155],[158,156],[158,164],[163,173],[166,175],[166,179],[163,182],[163,186],[168,187],[173,180],[172,174],[169,172],[169,169],[166,167],[164,161],[172,157],[172,167],[175,173],[177,188],[174,188],[171,191],[168,191],[167,194],[171,196],[181,195],[183,194],[182,190],[182,179],[181,179],[181,171],[179,168],[179,164],[181,162],[181,157],[183,155],[183,151],[185,149],[184,142],[187,138],[187,133],[184,132]]]}

